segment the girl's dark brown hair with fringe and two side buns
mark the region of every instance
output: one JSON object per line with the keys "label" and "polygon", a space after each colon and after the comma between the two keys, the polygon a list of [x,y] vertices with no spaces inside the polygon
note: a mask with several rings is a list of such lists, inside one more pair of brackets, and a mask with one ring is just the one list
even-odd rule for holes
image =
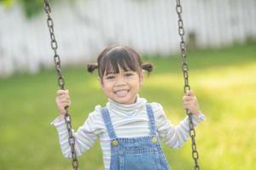
{"label": "girl's dark brown hair with fringe and two side buns", "polygon": [[140,55],[134,49],[122,45],[105,48],[99,54],[97,63],[87,65],[87,71],[92,73],[98,69],[99,77],[102,79],[105,73],[119,73],[119,67],[124,71],[137,71],[138,74],[142,70],[148,71],[148,73],[153,71],[153,65],[143,63]]}

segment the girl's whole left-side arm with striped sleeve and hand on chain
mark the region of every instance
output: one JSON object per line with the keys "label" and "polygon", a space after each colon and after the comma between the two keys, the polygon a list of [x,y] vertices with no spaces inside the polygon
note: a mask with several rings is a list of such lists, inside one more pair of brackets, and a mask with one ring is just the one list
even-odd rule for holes
{"label": "girl's whole left-side arm with striped sleeve and hand on chain", "polygon": [[[51,124],[54,125],[58,131],[63,156],[70,158],[71,147],[68,143],[67,126],[64,120],[64,116],[66,114],[65,107],[69,107],[71,105],[68,90],[58,90],[55,102],[60,116]],[[96,117],[99,114],[96,113],[97,111],[92,112],[84,122],[84,125],[79,127],[76,133],[72,130],[77,156],[82,155],[85,150],[89,150],[95,143],[96,136],[99,132],[97,128],[99,118]]]}

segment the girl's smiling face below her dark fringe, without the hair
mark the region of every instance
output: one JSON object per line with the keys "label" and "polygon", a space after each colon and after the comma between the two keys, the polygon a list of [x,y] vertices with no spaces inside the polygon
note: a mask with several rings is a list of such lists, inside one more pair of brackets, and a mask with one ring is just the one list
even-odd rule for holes
{"label": "girl's smiling face below her dark fringe, without the hair", "polygon": [[143,77],[143,71],[138,75],[136,71],[124,71],[119,67],[119,73],[104,73],[101,80],[102,90],[115,102],[133,104],[143,84]]}

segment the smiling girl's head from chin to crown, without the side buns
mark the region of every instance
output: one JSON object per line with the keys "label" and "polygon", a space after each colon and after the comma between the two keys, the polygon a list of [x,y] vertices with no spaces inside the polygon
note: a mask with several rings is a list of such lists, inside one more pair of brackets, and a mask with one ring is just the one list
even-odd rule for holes
{"label": "smiling girl's head from chin to crown, without the side buns", "polygon": [[111,46],[97,59],[102,90],[115,102],[132,104],[143,82],[142,62],[135,50]]}

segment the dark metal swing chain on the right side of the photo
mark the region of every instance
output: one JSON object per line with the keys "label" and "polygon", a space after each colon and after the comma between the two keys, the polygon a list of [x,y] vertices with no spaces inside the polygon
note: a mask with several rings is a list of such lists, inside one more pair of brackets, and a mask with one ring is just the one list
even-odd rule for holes
{"label": "dark metal swing chain on the right side of the photo", "polygon": [[[181,6],[180,0],[177,0],[176,5],[176,12],[178,16],[177,20],[177,26],[178,26],[178,34],[181,38],[180,42],[180,50],[182,55],[182,71],[183,71],[183,78],[184,78],[184,93],[188,92],[190,89],[189,86],[189,66],[187,62],[187,54],[186,54],[186,44],[184,42],[184,35],[185,31],[183,28],[183,19],[182,19],[182,12],[183,8]],[[198,163],[198,151],[196,150],[196,144],[195,144],[195,128],[194,124],[192,122],[192,113],[189,112],[189,110],[186,110],[186,114],[189,116],[189,136],[191,137],[191,143],[192,143],[192,157],[195,161],[195,170],[199,170],[199,163]]]}

